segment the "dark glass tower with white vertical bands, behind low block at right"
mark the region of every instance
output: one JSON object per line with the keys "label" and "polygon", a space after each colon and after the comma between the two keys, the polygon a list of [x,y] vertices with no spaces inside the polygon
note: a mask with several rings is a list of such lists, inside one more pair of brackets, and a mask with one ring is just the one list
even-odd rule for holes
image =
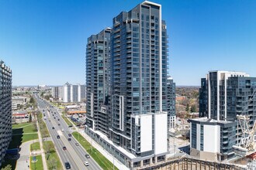
{"label": "dark glass tower with white vertical bands, behind low block at right", "polygon": [[[217,121],[235,121],[237,114],[241,113],[232,106],[241,105],[240,102],[242,104],[248,102],[254,92],[255,85],[250,83],[254,82],[254,79],[247,73],[209,71],[206,78],[201,80],[199,114]],[[250,86],[245,86],[247,82]],[[247,109],[247,107],[243,108]],[[244,110],[243,114],[245,112]]]}

